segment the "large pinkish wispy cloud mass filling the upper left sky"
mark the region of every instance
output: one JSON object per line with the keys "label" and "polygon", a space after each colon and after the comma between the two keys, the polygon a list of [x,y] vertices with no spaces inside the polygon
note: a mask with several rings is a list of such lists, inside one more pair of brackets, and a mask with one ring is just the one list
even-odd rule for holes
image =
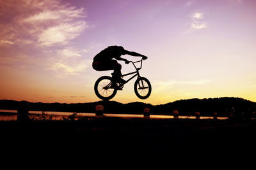
{"label": "large pinkish wispy cloud mass filling the upper left sky", "polygon": [[0,46],[6,52],[6,46],[17,47],[0,55],[1,66],[40,67],[59,77],[83,73],[90,66],[82,55],[86,50],[70,45],[88,28],[84,8],[62,0],[0,0],[0,7]]}

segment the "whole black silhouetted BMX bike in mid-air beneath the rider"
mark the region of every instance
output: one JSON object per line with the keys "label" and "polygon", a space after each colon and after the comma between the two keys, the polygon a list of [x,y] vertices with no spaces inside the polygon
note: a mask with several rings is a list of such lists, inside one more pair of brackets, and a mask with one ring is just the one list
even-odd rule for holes
{"label": "whole black silhouetted BMX bike in mid-air beneath the rider", "polygon": [[[125,80],[123,83],[115,83],[111,76],[100,77],[94,85],[94,92],[97,95],[97,97],[99,97],[102,100],[112,99],[113,97],[115,97],[117,90],[122,90],[126,83],[128,83],[130,80],[132,80],[132,78],[137,76],[137,80],[134,83],[134,92],[136,96],[138,96],[140,99],[147,99],[151,94],[152,87],[147,78],[140,76],[139,71],[142,67],[142,61],[143,59],[135,62],[129,62],[132,63],[136,71],[123,74],[121,77],[134,74],[131,78]],[[137,62],[141,62],[140,67],[136,67],[135,63]]]}

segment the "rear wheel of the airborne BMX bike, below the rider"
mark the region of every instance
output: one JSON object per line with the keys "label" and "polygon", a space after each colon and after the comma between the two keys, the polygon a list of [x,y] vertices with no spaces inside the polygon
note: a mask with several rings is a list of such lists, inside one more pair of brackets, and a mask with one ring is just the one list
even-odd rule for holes
{"label": "rear wheel of the airborne BMX bike, below the rider", "polygon": [[100,77],[94,85],[95,94],[102,100],[110,100],[115,97],[117,89],[111,87],[112,78],[110,76]]}

